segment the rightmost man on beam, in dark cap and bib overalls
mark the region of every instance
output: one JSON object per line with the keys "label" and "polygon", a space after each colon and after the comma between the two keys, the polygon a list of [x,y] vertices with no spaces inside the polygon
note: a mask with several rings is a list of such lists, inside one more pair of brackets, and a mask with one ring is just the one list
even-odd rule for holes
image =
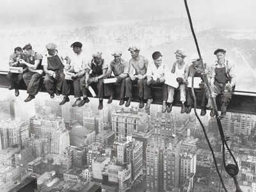
{"label": "rightmost man on beam, in dark cap and bib overalls", "polygon": [[[234,65],[225,59],[226,51],[224,49],[217,49],[214,51],[217,61],[211,67],[210,85],[212,92],[218,94],[221,99],[221,117],[226,115],[227,105],[232,95],[232,88],[236,85],[236,74]],[[205,95],[209,97],[209,91]],[[214,109],[212,107],[212,100],[208,100],[207,107],[211,110],[211,116],[214,116]]]}

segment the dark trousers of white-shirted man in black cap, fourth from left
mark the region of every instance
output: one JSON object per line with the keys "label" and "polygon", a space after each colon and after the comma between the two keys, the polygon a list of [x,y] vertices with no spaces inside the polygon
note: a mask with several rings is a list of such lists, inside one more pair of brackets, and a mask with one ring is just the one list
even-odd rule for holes
{"label": "dark trousers of white-shirted man in black cap, fourth from left", "polygon": [[72,81],[72,80],[68,80],[68,79],[64,79],[63,80],[63,86],[62,86],[62,95],[70,95],[70,88],[71,88],[71,84],[73,84],[74,86],[74,97],[81,97],[82,94],[82,88],[80,86],[80,80],[82,77],[78,77],[76,80]]}

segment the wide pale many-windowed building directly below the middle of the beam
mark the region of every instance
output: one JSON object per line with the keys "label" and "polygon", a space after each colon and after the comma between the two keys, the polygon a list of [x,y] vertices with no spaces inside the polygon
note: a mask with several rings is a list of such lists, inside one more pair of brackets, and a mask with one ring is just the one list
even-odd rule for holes
{"label": "wide pale many-windowed building directly below the middle of the beam", "polygon": [[132,132],[147,132],[149,129],[149,117],[147,113],[138,111],[113,111],[112,118],[112,131],[116,134],[116,139],[121,140],[131,135]]}

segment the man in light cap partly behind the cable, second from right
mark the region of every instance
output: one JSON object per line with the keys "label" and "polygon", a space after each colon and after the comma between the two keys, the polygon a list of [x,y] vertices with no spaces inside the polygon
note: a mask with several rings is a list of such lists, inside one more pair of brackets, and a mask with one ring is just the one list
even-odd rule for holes
{"label": "man in light cap partly behind the cable, second from right", "polygon": [[[204,83],[204,74],[205,71],[203,71],[202,64],[200,62],[200,58],[198,54],[193,54],[191,56],[191,62],[192,65],[189,66],[189,77],[200,77],[202,80],[202,83],[199,84],[202,97],[201,97],[201,116],[205,116],[206,114],[206,104],[205,104],[205,92],[206,92],[206,85]],[[204,63],[204,68],[206,67],[206,63]],[[193,108],[194,105],[194,98],[193,98],[193,93],[191,88],[188,88],[188,93],[187,93],[187,108],[186,108],[186,113],[190,113],[191,109]]]}

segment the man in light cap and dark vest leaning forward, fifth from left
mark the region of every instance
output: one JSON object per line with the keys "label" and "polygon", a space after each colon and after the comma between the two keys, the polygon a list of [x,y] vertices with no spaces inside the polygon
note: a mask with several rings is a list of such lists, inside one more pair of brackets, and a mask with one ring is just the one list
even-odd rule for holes
{"label": "man in light cap and dark vest leaning forward, fifth from left", "polygon": [[[108,64],[102,59],[102,52],[95,52],[92,55],[93,59],[87,65],[85,76],[80,80],[82,85],[83,97],[87,97],[88,87],[92,86],[93,90],[98,92],[99,106],[98,109],[103,109],[104,83],[103,77],[108,69]],[[90,74],[90,70],[92,73]],[[85,102],[82,100],[79,106],[83,106]]]}

